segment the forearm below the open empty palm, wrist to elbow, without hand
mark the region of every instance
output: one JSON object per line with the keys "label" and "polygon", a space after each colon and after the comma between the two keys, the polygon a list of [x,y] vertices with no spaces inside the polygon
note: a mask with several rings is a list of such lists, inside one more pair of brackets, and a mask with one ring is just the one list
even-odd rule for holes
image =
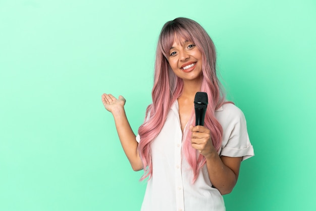
{"label": "forearm below the open empty palm, wrist to elbow, without hand", "polygon": [[112,114],[123,150],[131,163],[133,170],[139,171],[142,169],[142,162],[137,150],[138,143],[127,120],[124,107],[116,109]]}

